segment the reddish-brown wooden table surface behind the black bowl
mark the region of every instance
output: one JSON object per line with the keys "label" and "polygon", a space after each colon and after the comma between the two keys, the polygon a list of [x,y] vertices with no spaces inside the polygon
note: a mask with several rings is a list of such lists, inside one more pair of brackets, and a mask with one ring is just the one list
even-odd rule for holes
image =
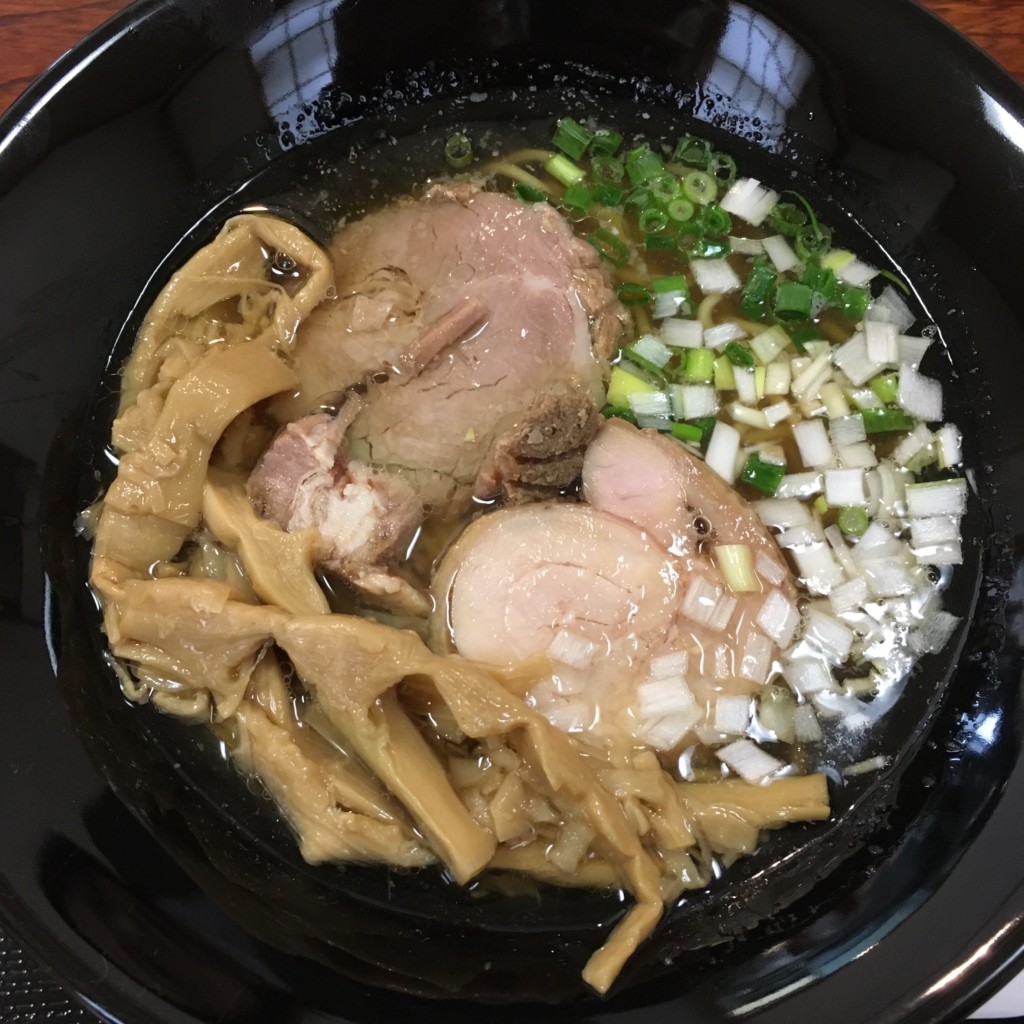
{"label": "reddish-brown wooden table surface behind the black bowl", "polygon": [[[1024,0],[922,2],[1024,84]],[[125,0],[0,0],[0,111],[65,50],[125,5]]]}

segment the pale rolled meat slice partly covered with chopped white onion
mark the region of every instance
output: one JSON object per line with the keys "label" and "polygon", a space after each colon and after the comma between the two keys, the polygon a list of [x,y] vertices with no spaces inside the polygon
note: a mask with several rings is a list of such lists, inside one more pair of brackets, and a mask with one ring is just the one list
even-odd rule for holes
{"label": "pale rolled meat slice partly covered with chopped white onion", "polygon": [[[463,532],[434,578],[435,642],[502,665],[547,654],[530,697],[552,722],[669,750],[710,728],[719,693],[768,681],[799,625],[794,583],[754,510],[677,442],[610,421],[583,475],[586,503],[505,509]],[[752,549],[759,590],[730,590],[723,544]],[[766,602],[788,615],[766,617]]]}

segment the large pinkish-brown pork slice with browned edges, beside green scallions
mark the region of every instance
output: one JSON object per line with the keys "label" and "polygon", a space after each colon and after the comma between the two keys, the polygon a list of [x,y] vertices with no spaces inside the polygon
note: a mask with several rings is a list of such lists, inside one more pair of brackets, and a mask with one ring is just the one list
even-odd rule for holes
{"label": "large pinkish-brown pork slice with browned edges, beside green scallions", "polygon": [[[323,321],[310,318],[296,368],[311,395],[351,383],[349,364],[327,369],[335,348],[375,347],[390,364],[349,430],[354,456],[400,473],[429,508],[457,511],[474,495],[499,494],[507,479],[514,487],[520,474],[509,451],[535,427],[550,435],[553,424],[565,423],[564,403],[555,410],[552,402],[571,396],[564,442],[548,444],[539,460],[546,471],[531,465],[525,474],[527,483],[544,479],[548,493],[571,482],[598,424],[607,357],[626,313],[597,254],[557,211],[469,183],[438,185],[345,228],[333,255],[341,299]],[[386,268],[404,283],[406,304],[368,321],[369,333],[358,330],[358,282],[379,281]],[[322,331],[327,318],[333,340]],[[453,322],[461,332],[445,328]],[[574,460],[563,461],[569,452]]]}

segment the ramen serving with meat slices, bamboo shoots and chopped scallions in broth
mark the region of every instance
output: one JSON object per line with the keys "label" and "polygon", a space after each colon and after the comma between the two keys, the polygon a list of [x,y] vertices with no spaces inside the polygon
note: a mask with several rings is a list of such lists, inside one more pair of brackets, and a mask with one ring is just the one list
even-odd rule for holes
{"label": "ramen serving with meat slices, bamboo shoots and chopped scallions in broth", "polygon": [[445,154],[328,250],[246,214],[173,275],[91,584],[126,693],[308,861],[627,892],[604,992],[951,636],[961,437],[898,283],[706,141]]}

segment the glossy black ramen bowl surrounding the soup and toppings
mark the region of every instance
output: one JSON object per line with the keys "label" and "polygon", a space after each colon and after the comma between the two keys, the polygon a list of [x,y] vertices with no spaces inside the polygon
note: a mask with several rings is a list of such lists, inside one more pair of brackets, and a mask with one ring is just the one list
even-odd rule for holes
{"label": "glossy black ramen bowl surrounding the soup and toppings", "polygon": [[[130,706],[76,517],[168,274],[252,203],[400,190],[455,129],[710,136],[911,286],[966,434],[964,628],[889,766],[672,910],[609,996],[617,896],[310,867],[205,730]],[[545,130],[549,130],[546,128]],[[416,173],[414,173],[416,172]],[[1024,92],[896,0],[146,0],[0,122],[0,922],[110,1020],[956,1020],[1024,945]],[[872,745],[873,744],[873,745]]]}

